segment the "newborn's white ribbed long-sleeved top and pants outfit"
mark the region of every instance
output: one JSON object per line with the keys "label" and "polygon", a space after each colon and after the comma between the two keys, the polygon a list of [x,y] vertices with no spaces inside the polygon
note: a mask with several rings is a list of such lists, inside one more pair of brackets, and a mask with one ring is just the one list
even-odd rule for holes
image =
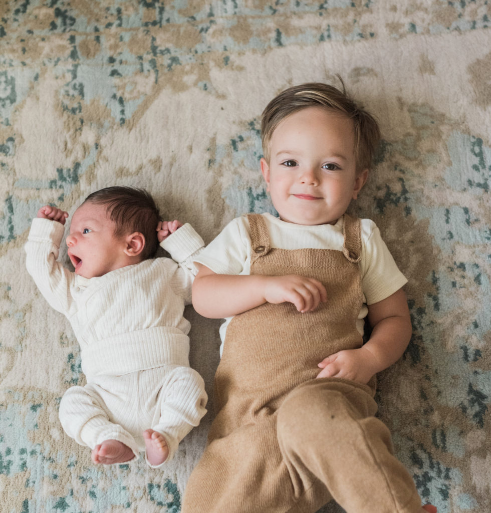
{"label": "newborn's white ribbed long-sleeved top and pants outfit", "polygon": [[61,223],[35,218],[25,245],[28,272],[66,315],[81,348],[87,385],[65,392],[62,426],[81,445],[119,440],[136,456],[145,449],[142,432],[152,428],[165,436],[169,461],[206,413],[183,317],[203,240],[185,224],[161,244],[173,260],[145,260],[87,279],[56,261],[63,235]]}

